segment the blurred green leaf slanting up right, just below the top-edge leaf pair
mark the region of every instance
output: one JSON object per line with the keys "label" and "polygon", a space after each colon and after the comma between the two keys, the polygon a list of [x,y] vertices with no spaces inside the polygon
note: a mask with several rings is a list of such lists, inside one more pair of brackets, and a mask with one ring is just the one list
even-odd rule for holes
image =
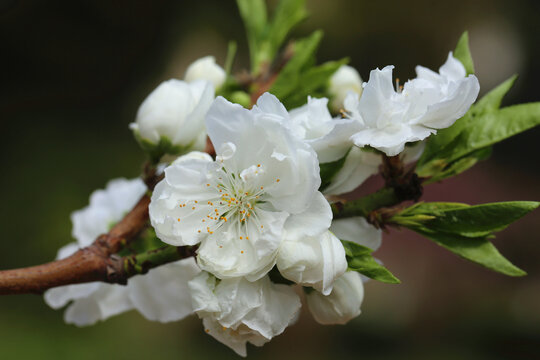
{"label": "blurred green leaf slanting up right, just below the top-edge leaf pair", "polygon": [[313,59],[322,39],[322,31],[315,31],[307,38],[300,39],[292,45],[292,58],[280,71],[270,92],[279,99],[285,98],[300,84],[303,68]]}

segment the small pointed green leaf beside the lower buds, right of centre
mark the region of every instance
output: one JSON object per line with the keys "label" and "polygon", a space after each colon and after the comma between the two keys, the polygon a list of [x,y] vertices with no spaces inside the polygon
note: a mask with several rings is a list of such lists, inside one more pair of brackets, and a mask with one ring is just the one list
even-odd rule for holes
{"label": "small pointed green leaf beside the lower buds, right of centre", "polygon": [[373,250],[352,241],[341,240],[347,255],[349,270],[357,271],[371,279],[389,284],[399,284],[400,281],[388,269],[375,261]]}

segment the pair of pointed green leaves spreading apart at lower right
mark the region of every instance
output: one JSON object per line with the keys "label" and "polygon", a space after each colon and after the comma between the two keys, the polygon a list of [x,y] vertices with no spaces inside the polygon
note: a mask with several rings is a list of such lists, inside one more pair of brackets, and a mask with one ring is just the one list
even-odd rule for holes
{"label": "pair of pointed green leaves spreading apart at lower right", "polygon": [[419,203],[390,222],[407,227],[453,253],[509,276],[526,273],[506,260],[488,240],[493,233],[536,209],[540,203],[511,201],[482,205]]}

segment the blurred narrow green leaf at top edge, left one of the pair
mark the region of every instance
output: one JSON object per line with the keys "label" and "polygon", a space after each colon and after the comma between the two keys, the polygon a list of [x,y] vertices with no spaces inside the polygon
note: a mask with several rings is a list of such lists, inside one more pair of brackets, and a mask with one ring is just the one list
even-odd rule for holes
{"label": "blurred narrow green leaf at top edge, left one of the pair", "polygon": [[254,70],[259,65],[259,45],[268,28],[266,3],[264,0],[236,0],[236,4],[246,27],[251,69]]}

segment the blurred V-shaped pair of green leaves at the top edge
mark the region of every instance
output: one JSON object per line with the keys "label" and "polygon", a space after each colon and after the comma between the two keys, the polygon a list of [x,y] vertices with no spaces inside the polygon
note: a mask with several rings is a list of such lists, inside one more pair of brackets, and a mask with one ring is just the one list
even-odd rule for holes
{"label": "blurred V-shaped pair of green leaves at the top edge", "polygon": [[281,0],[268,20],[264,0],[237,0],[246,27],[251,72],[257,75],[263,64],[274,59],[291,29],[307,16],[305,0]]}

